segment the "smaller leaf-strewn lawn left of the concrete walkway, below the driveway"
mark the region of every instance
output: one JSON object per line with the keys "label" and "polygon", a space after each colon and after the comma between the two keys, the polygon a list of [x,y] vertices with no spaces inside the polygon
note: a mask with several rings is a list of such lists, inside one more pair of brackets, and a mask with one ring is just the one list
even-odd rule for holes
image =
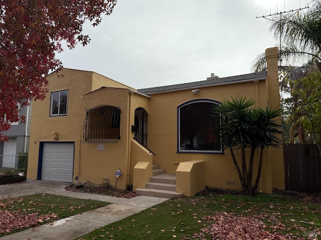
{"label": "smaller leaf-strewn lawn left of the concrete walkway, below the driveway", "polygon": [[0,198],[0,237],[108,204],[42,193]]}

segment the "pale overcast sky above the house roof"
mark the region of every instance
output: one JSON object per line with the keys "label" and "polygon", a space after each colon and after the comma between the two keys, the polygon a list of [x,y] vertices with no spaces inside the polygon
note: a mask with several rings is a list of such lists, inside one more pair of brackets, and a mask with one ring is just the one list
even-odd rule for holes
{"label": "pale overcast sky above the house roof", "polygon": [[[277,44],[257,16],[305,7],[310,0],[118,0],[91,41],[58,58],[136,89],[251,72],[255,56]],[[285,7],[284,7],[285,5]]]}

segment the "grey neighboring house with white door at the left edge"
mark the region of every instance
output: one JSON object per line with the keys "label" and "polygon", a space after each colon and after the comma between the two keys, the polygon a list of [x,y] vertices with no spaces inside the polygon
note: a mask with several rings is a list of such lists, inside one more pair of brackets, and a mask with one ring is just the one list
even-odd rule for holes
{"label": "grey neighboring house with white door at the left edge", "polygon": [[[27,99],[25,99],[27,101]],[[17,122],[11,123],[8,131],[1,131],[8,136],[7,141],[0,141],[0,167],[18,167],[18,155],[21,152],[29,151],[30,121],[32,112],[32,100],[28,106],[22,107],[19,103],[19,116],[25,116],[26,122],[21,123],[21,118]]]}

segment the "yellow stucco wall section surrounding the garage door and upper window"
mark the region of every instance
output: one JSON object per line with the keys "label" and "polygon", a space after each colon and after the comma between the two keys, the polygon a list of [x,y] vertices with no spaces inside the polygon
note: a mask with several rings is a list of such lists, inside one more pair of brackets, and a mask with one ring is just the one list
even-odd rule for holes
{"label": "yellow stucco wall section surrounding the garage door and upper window", "polygon": [[[47,76],[48,88],[44,100],[33,102],[27,178],[37,179],[39,143],[41,141],[74,141],[74,162],[79,160],[80,135],[83,112],[81,96],[92,87],[92,72],[65,69]],[[50,116],[51,92],[68,90],[67,115]],[[58,132],[59,140],[53,132]],[[74,172],[76,175],[78,172]]]}

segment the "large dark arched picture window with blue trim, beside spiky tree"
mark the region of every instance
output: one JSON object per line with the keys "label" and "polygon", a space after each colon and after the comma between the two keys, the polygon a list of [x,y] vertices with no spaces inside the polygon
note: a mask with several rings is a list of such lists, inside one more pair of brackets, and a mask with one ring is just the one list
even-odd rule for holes
{"label": "large dark arched picture window with blue trim, beside spiky tree", "polygon": [[178,152],[222,152],[219,115],[213,116],[211,107],[219,104],[210,99],[185,102],[178,107]]}

